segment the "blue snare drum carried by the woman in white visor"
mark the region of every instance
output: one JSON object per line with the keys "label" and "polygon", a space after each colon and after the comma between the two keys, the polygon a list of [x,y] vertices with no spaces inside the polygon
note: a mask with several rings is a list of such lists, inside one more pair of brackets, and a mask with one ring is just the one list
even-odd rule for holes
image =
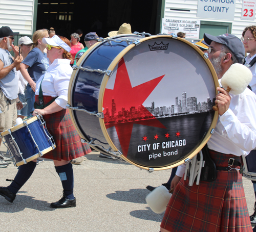
{"label": "blue snare drum carried by the woman in white visor", "polygon": [[15,166],[26,164],[53,150],[56,145],[41,116],[24,120],[0,134]]}

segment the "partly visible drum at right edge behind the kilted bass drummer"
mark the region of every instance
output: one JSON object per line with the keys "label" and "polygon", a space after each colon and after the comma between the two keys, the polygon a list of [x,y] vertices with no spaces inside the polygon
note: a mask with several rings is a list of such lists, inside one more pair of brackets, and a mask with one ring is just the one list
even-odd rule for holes
{"label": "partly visible drum at right edge behind the kilted bass drummer", "polygon": [[256,181],[256,150],[251,150],[251,152],[246,156],[242,156],[244,163],[243,176],[251,181]]}

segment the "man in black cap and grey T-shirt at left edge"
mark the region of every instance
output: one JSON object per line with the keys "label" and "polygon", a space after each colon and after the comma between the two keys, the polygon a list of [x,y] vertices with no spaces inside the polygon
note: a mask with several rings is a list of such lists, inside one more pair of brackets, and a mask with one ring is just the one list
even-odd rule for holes
{"label": "man in black cap and grey T-shirt at left edge", "polygon": [[[0,133],[11,128],[17,118],[18,77],[16,70],[23,61],[23,57],[18,54],[18,46],[13,45],[14,35],[18,34],[9,27],[0,28]],[[10,50],[13,50],[14,58],[9,53]],[[1,142],[0,139],[0,144]]]}

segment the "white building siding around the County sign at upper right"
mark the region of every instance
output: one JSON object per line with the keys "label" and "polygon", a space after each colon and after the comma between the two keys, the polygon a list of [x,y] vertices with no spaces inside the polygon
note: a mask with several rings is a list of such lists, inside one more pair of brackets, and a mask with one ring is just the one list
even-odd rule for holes
{"label": "white building siding around the County sign at upper right", "polygon": [[[232,34],[238,36],[239,38],[242,35],[242,32],[245,27],[249,25],[256,24],[256,17],[254,20],[241,20],[242,15],[242,0],[236,0],[236,9],[234,12],[233,20],[223,20],[223,19],[215,19],[215,18],[197,18],[197,5],[199,0],[166,0],[165,1],[165,9],[164,9],[164,17],[175,17],[175,18],[190,18],[190,19],[198,19],[201,21],[214,21],[214,22],[231,22],[232,23]],[[183,9],[190,10],[188,11],[174,11],[170,10],[170,8],[174,9]]]}

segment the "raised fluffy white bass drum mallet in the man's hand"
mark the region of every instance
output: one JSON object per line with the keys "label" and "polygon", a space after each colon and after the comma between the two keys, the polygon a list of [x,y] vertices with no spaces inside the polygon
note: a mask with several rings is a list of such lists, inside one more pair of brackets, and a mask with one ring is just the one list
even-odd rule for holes
{"label": "raised fluffy white bass drum mallet in the man's hand", "polygon": [[[234,95],[241,94],[245,91],[252,79],[252,73],[249,68],[242,64],[232,64],[224,73],[221,79],[221,85],[226,91]],[[218,110],[218,104],[212,107]]]}

